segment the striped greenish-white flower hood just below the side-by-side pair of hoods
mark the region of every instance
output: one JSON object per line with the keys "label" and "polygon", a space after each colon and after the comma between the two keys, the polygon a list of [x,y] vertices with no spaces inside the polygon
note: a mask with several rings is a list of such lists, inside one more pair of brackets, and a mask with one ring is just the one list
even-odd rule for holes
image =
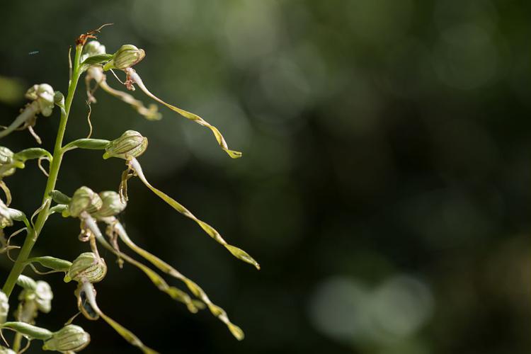
{"label": "striped greenish-white flower hood just below the side-by-side pair of hoods", "polygon": [[106,273],[107,265],[103,258],[98,258],[92,252],[85,252],[72,262],[68,273],[64,275],[64,282],[99,282],[105,278]]}

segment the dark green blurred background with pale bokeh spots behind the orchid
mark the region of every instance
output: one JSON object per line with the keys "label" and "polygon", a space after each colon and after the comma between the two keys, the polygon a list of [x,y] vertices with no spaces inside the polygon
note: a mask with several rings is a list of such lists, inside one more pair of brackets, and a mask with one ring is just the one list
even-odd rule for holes
{"label": "dark green blurred background with pale bokeh spots behind the orchid", "polygon": [[[142,47],[145,84],[244,152],[230,159],[166,108],[149,122],[96,93],[93,137],[149,137],[139,161],[152,183],[262,265],[131,180],[132,239],[246,332],[237,342],[103,252],[101,308],[162,353],[529,353],[530,16],[524,0],[4,1],[0,124],[30,85],[65,93],[69,45],[112,22],[99,36],[108,52]],[[81,84],[67,140],[88,132],[84,100]],[[38,118],[47,149],[58,120]],[[28,132],[1,144],[35,146]],[[115,190],[123,168],[70,152],[57,188]],[[29,163],[6,182],[31,215],[45,177]],[[74,259],[89,249],[78,233],[50,217],[34,254]],[[11,263],[0,265],[5,277]],[[58,329],[76,312],[74,285],[45,279],[54,309],[38,323]],[[84,353],[136,353],[103,321],[77,323],[92,335]]]}

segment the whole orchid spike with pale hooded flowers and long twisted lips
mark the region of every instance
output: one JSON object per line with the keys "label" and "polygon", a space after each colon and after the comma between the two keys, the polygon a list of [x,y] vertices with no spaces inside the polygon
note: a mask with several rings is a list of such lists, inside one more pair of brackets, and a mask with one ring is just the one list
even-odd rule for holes
{"label": "whole orchid spike with pale hooded flowers and long twisted lips", "polygon": [[[103,26],[101,27],[103,28]],[[113,327],[126,341],[133,346],[137,346],[144,353],[156,353],[155,350],[144,345],[142,341],[131,331],[122,326],[114,319],[110,318],[98,307],[96,302],[96,283],[105,279],[107,273],[107,263],[98,252],[99,247],[110,251],[118,260],[121,267],[123,263],[130,263],[142,271],[147,278],[161,291],[178,302],[182,302],[190,312],[198,312],[200,309],[209,309],[220,321],[227,325],[229,331],[238,340],[244,338],[244,332],[232,324],[227,313],[221,307],[214,304],[204,290],[193,280],[180,273],[172,265],[161,260],[149,251],[142,249],[135,244],[126,229],[117,218],[117,215],[127,207],[127,180],[138,177],[149,190],[168,203],[173,209],[192,219],[201,229],[203,229],[212,239],[222,244],[236,258],[254,265],[260,269],[258,263],[249,256],[248,253],[233,246],[217,232],[217,230],[196,217],[190,210],[181,205],[166,193],[155,188],[149,183],[144,175],[142,166],[138,160],[139,156],[145,152],[148,146],[147,137],[143,137],[139,132],[133,130],[125,131],[120,137],[114,140],[94,139],[91,133],[88,137],[76,139],[64,144],[64,131],[67,127],[72,99],[76,93],[76,87],[82,75],[85,75],[87,100],[96,103],[96,90],[101,88],[106,93],[114,96],[134,108],[139,115],[148,120],[159,120],[160,113],[156,105],[144,105],[127,91],[134,91],[135,86],[143,91],[148,98],[166,105],[174,112],[197,122],[199,125],[209,128],[215,136],[219,147],[233,159],[241,157],[241,152],[229,149],[222,134],[216,127],[198,115],[190,113],[174,105],[166,103],[151,91],[142,81],[139,73],[133,69],[139,61],[144,59],[145,52],[135,45],[122,45],[114,54],[108,54],[105,46],[97,41],[96,35],[101,28],[84,33],[76,39],[75,55],[72,57],[69,52],[70,75],[67,96],[59,91],[54,91],[48,84],[37,84],[28,89],[26,98],[29,103],[25,105],[15,120],[0,131],[0,138],[15,132],[16,130],[27,129],[38,144],[40,137],[34,130],[35,123],[39,116],[49,117],[57,106],[60,112],[59,127],[55,139],[55,147],[52,153],[40,147],[24,149],[21,152],[13,153],[7,147],[0,147],[0,188],[4,191],[5,201],[0,198],[0,252],[6,253],[10,259],[10,252],[18,249],[18,255],[13,260],[13,267],[9,273],[4,287],[0,292],[0,334],[3,330],[15,331],[13,343],[8,343],[4,339],[3,346],[0,346],[1,353],[22,353],[33,341],[42,341],[42,350],[55,350],[61,353],[76,353],[89,345],[91,337],[81,326],[73,324],[76,316],[80,313],[86,319],[96,321],[103,319]],[[122,84],[125,90],[115,89],[108,84],[107,74],[112,73],[117,77],[115,71],[125,73],[126,79]],[[121,81],[120,81],[121,82]],[[90,105],[89,105],[90,107]],[[90,111],[89,111],[90,112]],[[92,125],[89,113],[89,125]],[[62,193],[56,189],[57,176],[64,154],[72,149],[94,149],[103,152],[103,159],[111,157],[125,160],[126,169],[122,173],[121,182],[117,190],[105,190],[99,193],[94,192],[88,186],[80,186],[72,195]],[[31,217],[20,210],[10,207],[13,197],[4,178],[16,173],[16,169],[23,169],[28,160],[35,159],[38,167],[47,176],[47,183],[42,197],[40,207],[38,207]],[[50,167],[48,171],[42,166],[42,161],[48,161]],[[42,229],[45,227],[48,217],[53,214],[62,215],[78,219],[80,223],[79,240],[86,242],[89,246],[81,252],[74,261],[67,261],[54,256],[31,257],[31,251],[36,241],[38,241]],[[22,222],[23,227],[6,237],[4,229],[13,227],[16,222]],[[102,232],[101,225],[105,226]],[[23,246],[11,244],[11,237],[15,234],[25,233]],[[135,253],[142,261],[133,258],[128,253],[120,249],[120,244],[124,244]],[[149,265],[147,265],[149,264]],[[33,269],[35,273],[44,274],[37,269],[37,266],[47,268],[46,273],[64,273],[64,282],[76,282],[74,295],[76,296],[77,311],[73,311],[71,319],[66,321],[61,329],[52,331],[36,325],[39,312],[47,313],[52,309],[53,292],[50,285],[43,280],[34,280],[23,275],[26,267]],[[169,278],[176,278],[183,282],[185,290],[169,285],[161,273]],[[13,321],[8,321],[9,297],[15,286],[21,287],[18,296],[18,307],[13,312]],[[4,338],[4,336],[2,336]],[[25,346],[22,348],[22,341],[25,339]]]}

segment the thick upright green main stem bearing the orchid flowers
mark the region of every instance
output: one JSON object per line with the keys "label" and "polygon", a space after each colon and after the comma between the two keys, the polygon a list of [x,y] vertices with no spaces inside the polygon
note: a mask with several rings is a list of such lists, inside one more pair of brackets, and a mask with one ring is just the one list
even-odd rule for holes
{"label": "thick upright green main stem bearing the orchid flowers", "polygon": [[68,87],[68,94],[66,101],[64,103],[64,111],[61,113],[61,120],[59,121],[59,129],[57,130],[57,137],[55,139],[55,147],[53,152],[53,160],[52,164],[50,165],[50,176],[48,177],[48,181],[46,183],[45,193],[42,197],[42,205],[45,205],[45,207],[40,210],[39,215],[37,217],[37,221],[35,222],[35,227],[33,229],[30,229],[28,232],[28,236],[26,236],[24,244],[22,246],[21,252],[18,253],[18,257],[16,258],[16,262],[13,265],[13,268],[11,268],[11,272],[9,273],[6,282],[4,283],[4,287],[2,290],[4,293],[9,297],[11,295],[11,291],[13,291],[13,287],[16,284],[16,280],[18,279],[18,276],[21,275],[23,272],[26,263],[26,260],[30,256],[31,250],[33,249],[33,245],[35,245],[35,241],[37,241],[38,236],[42,230],[42,227],[44,227],[44,224],[48,217],[48,210],[50,209],[50,192],[55,188],[55,183],[57,182],[57,175],[59,174],[59,167],[61,166],[61,161],[63,158],[63,149],[62,149],[62,143],[63,143],[63,137],[64,137],[64,131],[67,127],[67,121],[68,121],[68,115],[70,113],[70,107],[72,105],[72,99],[74,98],[74,93],[76,92],[76,86],[77,81],[79,80],[79,76],[81,76],[81,70],[79,68],[79,57],[81,57],[81,50],[83,49],[82,45],[76,46],[76,57],[74,59],[74,73],[72,74],[72,81],[69,83]]}

